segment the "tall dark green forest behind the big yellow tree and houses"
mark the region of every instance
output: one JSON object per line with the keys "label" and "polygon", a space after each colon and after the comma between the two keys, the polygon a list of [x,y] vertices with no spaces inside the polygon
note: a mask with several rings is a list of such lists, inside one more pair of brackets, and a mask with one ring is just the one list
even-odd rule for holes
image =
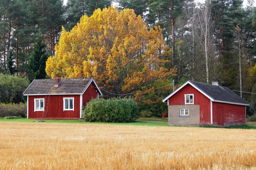
{"label": "tall dark green forest behind the big yellow tree and houses", "polygon": [[[117,4],[133,9],[150,28],[161,28],[175,82],[211,83],[220,78],[252,103],[255,112],[256,8],[248,0],[0,0],[0,73],[47,77],[46,60],[55,55],[62,26],[70,31],[83,15]],[[137,89],[134,89],[137,90]],[[121,93],[121,92],[120,92]]]}

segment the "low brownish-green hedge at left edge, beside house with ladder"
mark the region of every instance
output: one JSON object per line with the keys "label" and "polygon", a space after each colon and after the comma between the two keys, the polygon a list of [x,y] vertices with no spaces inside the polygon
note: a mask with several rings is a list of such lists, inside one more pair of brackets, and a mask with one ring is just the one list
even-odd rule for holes
{"label": "low brownish-green hedge at left edge, beside house with ladder", "polygon": [[0,103],[0,117],[7,116],[27,116],[27,104],[19,103],[19,104],[4,104]]}

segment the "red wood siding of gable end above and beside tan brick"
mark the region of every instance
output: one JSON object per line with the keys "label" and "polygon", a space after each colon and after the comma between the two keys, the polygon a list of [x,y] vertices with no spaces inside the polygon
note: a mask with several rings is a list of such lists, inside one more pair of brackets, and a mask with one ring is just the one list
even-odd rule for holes
{"label": "red wood siding of gable end above and beside tan brick", "polygon": [[185,94],[194,94],[194,105],[200,105],[200,123],[211,123],[211,100],[203,95],[200,91],[196,90],[190,84],[185,85],[182,89],[171,96],[169,105],[185,105]]}

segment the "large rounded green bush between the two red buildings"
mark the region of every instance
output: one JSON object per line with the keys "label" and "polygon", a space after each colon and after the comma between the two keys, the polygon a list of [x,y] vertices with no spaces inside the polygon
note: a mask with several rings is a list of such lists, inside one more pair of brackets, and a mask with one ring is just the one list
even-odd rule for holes
{"label": "large rounded green bush between the two red buildings", "polygon": [[92,99],[83,110],[89,122],[131,122],[139,118],[139,108],[132,98]]}

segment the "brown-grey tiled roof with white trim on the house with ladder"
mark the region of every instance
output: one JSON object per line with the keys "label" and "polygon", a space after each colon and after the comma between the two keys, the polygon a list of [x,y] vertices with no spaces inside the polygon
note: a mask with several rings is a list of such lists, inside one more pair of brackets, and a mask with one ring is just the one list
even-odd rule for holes
{"label": "brown-grey tiled roof with white trim on the house with ladder", "polygon": [[[87,89],[93,78],[63,78],[59,87],[54,87],[55,79],[36,79],[28,86],[23,95],[45,95],[45,94],[82,94]],[[102,96],[98,88],[99,95]]]}

